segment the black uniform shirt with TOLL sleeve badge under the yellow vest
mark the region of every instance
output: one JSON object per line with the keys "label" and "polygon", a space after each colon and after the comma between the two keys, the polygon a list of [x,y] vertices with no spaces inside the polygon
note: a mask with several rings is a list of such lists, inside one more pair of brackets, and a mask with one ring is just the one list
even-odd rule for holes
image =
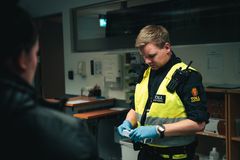
{"label": "black uniform shirt with TOLL sleeve badge under the yellow vest", "polygon": [[[173,53],[171,59],[164,67],[158,70],[151,70],[148,83],[150,100],[156,94],[159,85],[171,67],[180,62],[181,59],[176,57]],[[206,93],[202,84],[202,76],[199,72],[190,70],[189,77],[184,83],[181,83],[177,87],[176,92],[185,106],[187,117],[189,119],[196,122],[208,122],[209,114],[206,106]],[[134,98],[131,104],[134,109]],[[147,103],[146,107],[149,107],[149,105],[151,105],[151,103]]]}

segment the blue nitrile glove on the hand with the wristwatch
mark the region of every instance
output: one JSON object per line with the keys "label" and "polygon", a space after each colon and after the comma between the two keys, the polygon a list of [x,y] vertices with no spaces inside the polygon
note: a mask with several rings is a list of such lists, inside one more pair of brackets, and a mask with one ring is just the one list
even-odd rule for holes
{"label": "blue nitrile glove on the hand with the wristwatch", "polygon": [[144,139],[151,139],[159,137],[156,126],[141,126],[129,134],[129,137],[134,142],[144,141]]}

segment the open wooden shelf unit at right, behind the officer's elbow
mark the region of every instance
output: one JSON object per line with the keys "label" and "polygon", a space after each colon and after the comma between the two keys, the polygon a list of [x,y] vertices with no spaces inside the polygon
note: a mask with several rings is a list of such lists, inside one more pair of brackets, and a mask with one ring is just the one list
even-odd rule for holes
{"label": "open wooden shelf unit at right, behind the officer's elbow", "polygon": [[240,159],[240,90],[207,88],[209,123],[203,132],[197,133],[199,145],[197,153],[208,156],[216,147],[220,159]]}

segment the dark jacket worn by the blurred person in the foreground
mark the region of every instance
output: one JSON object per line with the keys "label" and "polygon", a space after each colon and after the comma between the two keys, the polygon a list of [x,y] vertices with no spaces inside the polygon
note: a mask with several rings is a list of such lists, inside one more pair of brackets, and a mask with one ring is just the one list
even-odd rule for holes
{"label": "dark jacket worn by the blurred person in the foreground", "polygon": [[0,159],[96,160],[85,122],[44,105],[23,79],[0,71]]}

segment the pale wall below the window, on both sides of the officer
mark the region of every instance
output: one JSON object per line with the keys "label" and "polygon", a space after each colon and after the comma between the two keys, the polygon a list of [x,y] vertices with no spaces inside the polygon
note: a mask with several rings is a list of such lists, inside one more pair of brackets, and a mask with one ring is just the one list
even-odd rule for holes
{"label": "pale wall below the window, on both sides of the officer", "polygon": [[[133,49],[129,49],[133,51]],[[193,61],[192,66],[201,72],[203,83],[205,86],[213,84],[235,84],[240,86],[240,42],[237,43],[219,43],[219,44],[197,44],[197,45],[182,45],[173,46],[173,51],[185,63]],[[119,50],[116,54],[124,54],[128,50]],[[84,60],[87,63],[87,77],[81,78],[76,75],[74,80],[66,79],[66,92],[71,94],[80,93],[81,87],[91,87],[94,84],[99,84],[101,88],[104,86],[104,77],[100,75],[90,75],[89,61],[91,59],[102,61],[104,54],[101,53],[80,53],[72,54],[68,57],[68,63],[65,69],[76,68],[79,60]],[[119,91],[108,90],[105,93],[107,96],[124,99],[125,89]]]}

